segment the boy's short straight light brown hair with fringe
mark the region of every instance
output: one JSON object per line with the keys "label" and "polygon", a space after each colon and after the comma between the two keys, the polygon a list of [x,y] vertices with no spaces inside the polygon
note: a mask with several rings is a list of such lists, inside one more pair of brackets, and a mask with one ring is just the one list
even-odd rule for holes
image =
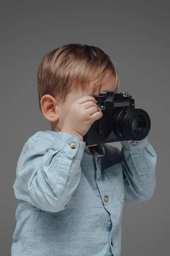
{"label": "boy's short straight light brown hair with fringe", "polygon": [[[110,76],[104,80],[105,74]],[[58,97],[63,103],[71,90],[82,88],[84,92],[93,83],[93,90],[112,75],[119,87],[118,70],[111,58],[102,49],[87,44],[66,44],[48,52],[42,59],[37,72],[39,107],[45,94]]]}

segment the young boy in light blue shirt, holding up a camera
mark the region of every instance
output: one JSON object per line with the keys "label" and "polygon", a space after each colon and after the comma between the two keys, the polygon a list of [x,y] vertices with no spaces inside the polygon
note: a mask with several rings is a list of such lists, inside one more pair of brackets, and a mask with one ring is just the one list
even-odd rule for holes
{"label": "young boy in light blue shirt, holding up a camera", "polygon": [[51,130],[38,131],[17,163],[12,256],[120,256],[124,201],[145,201],[156,186],[148,138],[86,146],[102,117],[101,91],[118,91],[115,65],[101,49],[68,44],[43,58],[39,105]]}

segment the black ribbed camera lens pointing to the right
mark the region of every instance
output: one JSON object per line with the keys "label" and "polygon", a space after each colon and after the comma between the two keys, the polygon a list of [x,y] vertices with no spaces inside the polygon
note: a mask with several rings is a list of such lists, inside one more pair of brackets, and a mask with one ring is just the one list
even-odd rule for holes
{"label": "black ribbed camera lens pointing to the right", "polygon": [[149,134],[150,117],[140,108],[119,109],[113,116],[113,131],[124,140],[142,140]]}

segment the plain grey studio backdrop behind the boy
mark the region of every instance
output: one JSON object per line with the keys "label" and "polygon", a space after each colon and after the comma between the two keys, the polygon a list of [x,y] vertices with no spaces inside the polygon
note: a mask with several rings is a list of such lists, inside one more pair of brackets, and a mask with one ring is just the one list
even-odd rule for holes
{"label": "plain grey studio backdrop behind the boy", "polygon": [[[38,108],[37,69],[68,43],[103,49],[119,69],[119,92],[151,118],[156,191],[125,203],[121,256],[169,255],[170,13],[168,1],[3,1],[0,10],[0,255],[10,255],[17,160],[26,140],[50,129]],[[120,143],[112,143],[121,148]]]}

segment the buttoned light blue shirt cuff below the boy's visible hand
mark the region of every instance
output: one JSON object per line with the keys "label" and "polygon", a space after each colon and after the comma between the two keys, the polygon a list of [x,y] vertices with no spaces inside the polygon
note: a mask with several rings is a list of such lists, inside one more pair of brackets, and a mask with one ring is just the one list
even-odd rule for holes
{"label": "buttoned light blue shirt cuff below the boy's visible hand", "polygon": [[[71,148],[71,143],[76,144],[76,148]],[[65,153],[72,154],[75,157],[82,159],[86,143],[79,140],[74,135],[68,134],[66,132],[56,132],[56,137],[51,145],[52,148],[64,151]]]}

